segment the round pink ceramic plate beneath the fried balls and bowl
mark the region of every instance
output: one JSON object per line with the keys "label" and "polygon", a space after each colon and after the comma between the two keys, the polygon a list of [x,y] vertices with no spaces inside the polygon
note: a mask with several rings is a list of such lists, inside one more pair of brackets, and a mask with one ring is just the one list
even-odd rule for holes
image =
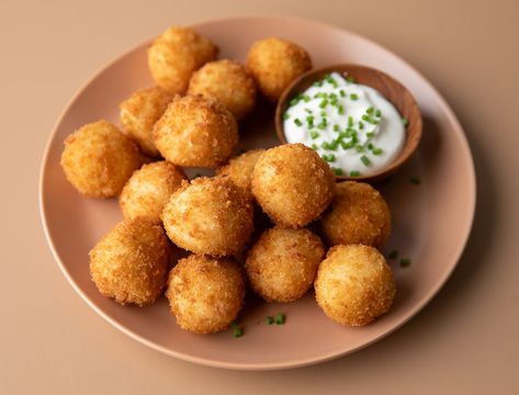
{"label": "round pink ceramic plate beneath the fried balls and bowl", "polygon": [[[123,332],[172,357],[230,369],[282,369],[345,356],[395,330],[439,291],[454,269],[469,237],[475,204],[471,153],[452,111],[414,68],[383,47],[347,31],[292,18],[236,18],[196,24],[221,48],[221,57],[244,60],[249,45],[266,35],[281,36],[305,47],[315,67],[363,64],[404,83],[424,114],[418,153],[393,179],[380,185],[393,211],[396,248],[413,263],[395,269],[398,293],[392,311],[362,328],[346,328],[325,317],[309,293],[293,304],[252,301],[239,318],[245,336],[230,331],[200,336],[181,330],[167,301],[145,307],[123,307],[101,296],[89,275],[88,251],[120,218],[115,200],[81,198],[59,167],[63,140],[84,123],[104,117],[117,123],[117,105],[133,91],[151,84],[148,43],[120,56],[97,74],[71,100],[47,145],[41,177],[42,221],[53,253],[83,300]],[[157,32],[157,34],[160,32]],[[264,111],[269,116],[264,116]],[[263,110],[241,125],[242,147],[277,144],[273,110]],[[409,182],[419,176],[420,185]],[[286,314],[284,326],[267,326],[264,317]]]}

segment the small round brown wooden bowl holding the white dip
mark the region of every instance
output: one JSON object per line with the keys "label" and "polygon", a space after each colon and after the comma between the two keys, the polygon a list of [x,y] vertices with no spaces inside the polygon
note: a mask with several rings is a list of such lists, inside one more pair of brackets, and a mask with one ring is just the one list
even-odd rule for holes
{"label": "small round brown wooden bowl holding the white dip", "polygon": [[278,138],[280,139],[281,144],[287,143],[283,132],[282,114],[286,111],[290,100],[295,94],[303,93],[315,81],[323,79],[326,75],[334,71],[345,77],[353,77],[356,82],[376,89],[390,102],[392,102],[400,115],[406,117],[408,121],[404,149],[393,163],[370,176],[337,176],[337,178],[341,180],[369,182],[380,181],[383,178],[393,174],[399,167],[402,167],[402,165],[405,163],[407,159],[409,159],[411,154],[418,147],[418,143],[421,138],[422,127],[421,113],[418,109],[418,105],[416,104],[415,98],[413,98],[410,92],[402,83],[380,70],[360,65],[336,65],[309,70],[308,72],[304,74],[285,89],[278,102],[278,108],[275,109],[275,131],[278,133]]}

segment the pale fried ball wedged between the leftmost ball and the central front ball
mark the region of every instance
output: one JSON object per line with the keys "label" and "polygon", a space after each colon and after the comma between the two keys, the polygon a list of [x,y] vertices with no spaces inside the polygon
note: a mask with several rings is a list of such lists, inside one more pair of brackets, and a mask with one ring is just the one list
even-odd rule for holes
{"label": "pale fried ball wedged between the leftmost ball and the central front ball", "polygon": [[187,180],[184,172],[166,160],[144,165],[124,185],[119,204],[125,218],[146,216],[160,221],[171,194]]}

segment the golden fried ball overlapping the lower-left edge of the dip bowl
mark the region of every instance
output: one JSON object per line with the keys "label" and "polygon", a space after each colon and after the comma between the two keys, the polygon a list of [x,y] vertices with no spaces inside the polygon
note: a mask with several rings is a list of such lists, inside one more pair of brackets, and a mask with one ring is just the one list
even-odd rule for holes
{"label": "golden fried ball overlapping the lower-left edge of the dip bowl", "polygon": [[298,228],[316,219],[331,202],[335,187],[328,163],[303,144],[268,149],[252,172],[252,194],[282,227]]}

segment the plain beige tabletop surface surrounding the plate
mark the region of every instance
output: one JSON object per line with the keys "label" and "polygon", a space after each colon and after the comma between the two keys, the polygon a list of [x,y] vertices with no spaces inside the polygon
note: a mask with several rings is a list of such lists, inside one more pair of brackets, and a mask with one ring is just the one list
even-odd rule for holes
{"label": "plain beige tabletop surface surrounding the plate", "polygon": [[[517,1],[108,3],[0,2],[1,394],[519,393]],[[61,109],[108,60],[169,24],[258,13],[343,26],[422,71],[465,127],[478,203],[453,276],[397,332],[317,366],[234,372],[162,356],[97,316],[46,246],[37,178]]]}

